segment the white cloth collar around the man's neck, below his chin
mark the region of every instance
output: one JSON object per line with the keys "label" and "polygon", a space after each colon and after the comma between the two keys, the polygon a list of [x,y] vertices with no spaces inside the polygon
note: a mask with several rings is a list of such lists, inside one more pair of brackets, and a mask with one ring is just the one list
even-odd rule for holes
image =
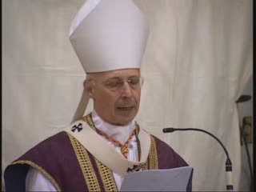
{"label": "white cloth collar around the man's neck, below his chin", "polygon": [[130,137],[130,134],[132,134],[135,129],[134,119],[129,122],[127,126],[115,126],[105,122],[98,116],[95,110],[92,111],[92,120],[98,130],[101,130],[103,133],[118,140],[118,142],[121,142],[122,144],[127,141],[127,139]]}

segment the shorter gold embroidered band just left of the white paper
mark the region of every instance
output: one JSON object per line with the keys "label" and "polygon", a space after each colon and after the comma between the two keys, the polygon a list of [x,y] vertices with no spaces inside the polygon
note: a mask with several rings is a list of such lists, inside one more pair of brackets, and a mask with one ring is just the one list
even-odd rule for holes
{"label": "shorter gold embroidered band just left of the white paper", "polygon": [[118,191],[112,171],[95,158],[105,191]]}

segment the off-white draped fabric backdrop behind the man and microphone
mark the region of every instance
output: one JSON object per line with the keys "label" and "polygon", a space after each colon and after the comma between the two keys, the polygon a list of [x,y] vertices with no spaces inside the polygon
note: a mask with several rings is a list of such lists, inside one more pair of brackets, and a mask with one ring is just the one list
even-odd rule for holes
{"label": "off-white draped fabric backdrop behind the man and microphone", "polygon": [[[2,1],[2,170],[69,125],[86,77],[68,34],[83,0]],[[150,22],[138,122],[194,166],[194,190],[226,190],[226,156],[239,188],[235,101],[252,74],[251,0],[135,0]],[[92,109],[92,102],[86,112]]]}

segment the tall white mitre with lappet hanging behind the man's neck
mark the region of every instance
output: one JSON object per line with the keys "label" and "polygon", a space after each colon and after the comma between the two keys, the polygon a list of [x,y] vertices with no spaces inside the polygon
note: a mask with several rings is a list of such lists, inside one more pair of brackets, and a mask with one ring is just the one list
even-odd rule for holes
{"label": "tall white mitre with lappet hanging behind the man's neck", "polygon": [[[87,0],[70,27],[70,42],[86,73],[140,68],[149,28],[132,0]],[[82,118],[83,90],[73,121]]]}

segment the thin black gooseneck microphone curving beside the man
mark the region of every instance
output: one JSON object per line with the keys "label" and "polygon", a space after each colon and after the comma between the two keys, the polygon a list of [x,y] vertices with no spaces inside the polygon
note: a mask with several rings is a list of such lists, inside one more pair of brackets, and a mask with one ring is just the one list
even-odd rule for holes
{"label": "thin black gooseneck microphone curving beside the man", "polygon": [[163,133],[171,133],[174,132],[175,130],[197,130],[197,131],[201,131],[204,132],[206,134],[210,134],[210,136],[212,136],[213,138],[215,138],[218,143],[222,146],[223,150],[226,153],[226,190],[227,191],[233,191],[233,182],[232,182],[232,163],[230,160],[230,155],[226,150],[226,147],[222,144],[222,142],[214,135],[211,134],[210,132],[206,131],[206,130],[200,130],[200,129],[196,129],[196,128],[183,128],[183,129],[178,129],[178,128],[164,128],[162,130]]}

